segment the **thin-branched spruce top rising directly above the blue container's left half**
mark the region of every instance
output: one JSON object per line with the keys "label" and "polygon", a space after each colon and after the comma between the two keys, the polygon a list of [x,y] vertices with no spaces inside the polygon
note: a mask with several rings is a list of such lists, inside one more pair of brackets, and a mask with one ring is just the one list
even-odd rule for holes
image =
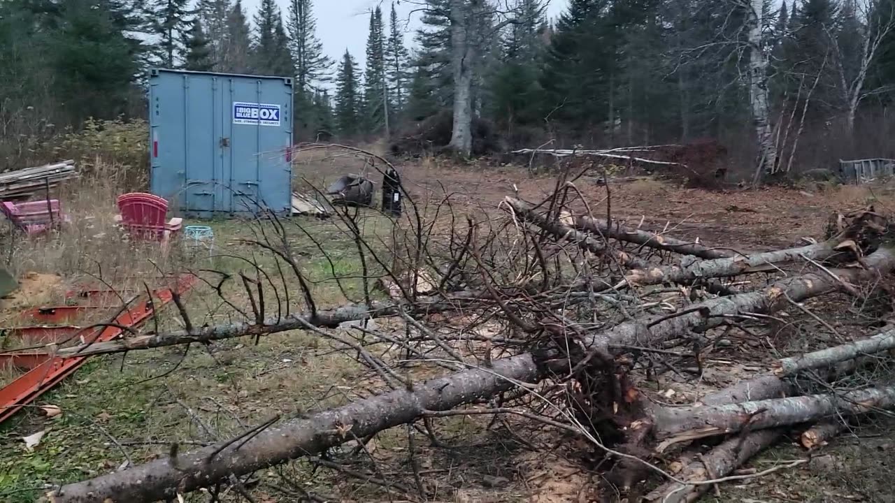
{"label": "thin-branched spruce top rising directly above the blue container's left half", "polygon": [[192,30],[190,0],[151,0],[147,7],[149,30],[158,37],[157,57],[168,68],[178,65],[185,52],[184,41]]}

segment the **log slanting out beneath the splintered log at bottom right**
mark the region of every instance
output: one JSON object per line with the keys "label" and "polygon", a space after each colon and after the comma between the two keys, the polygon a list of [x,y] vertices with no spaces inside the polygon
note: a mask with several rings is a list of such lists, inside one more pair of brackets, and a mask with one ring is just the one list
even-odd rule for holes
{"label": "log slanting out beneath the splintered log at bottom right", "polygon": [[[728,476],[752,456],[768,448],[780,438],[781,430],[754,431],[746,437],[734,437],[713,448],[709,454],[686,465],[678,479],[686,482],[705,482]],[[681,484],[669,482],[652,490],[644,501],[654,503],[692,503],[712,488],[709,484]]]}

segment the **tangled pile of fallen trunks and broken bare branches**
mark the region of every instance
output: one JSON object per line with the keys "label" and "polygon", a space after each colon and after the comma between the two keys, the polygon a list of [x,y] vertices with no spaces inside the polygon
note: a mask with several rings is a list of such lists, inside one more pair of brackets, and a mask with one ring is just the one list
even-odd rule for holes
{"label": "tangled pile of fallen trunks and broken bare branches", "polygon": [[[831,426],[832,418],[895,406],[895,383],[837,388],[830,377],[860,371],[866,355],[895,349],[895,328],[869,339],[764,362],[766,372],[751,379],[729,379],[736,384],[710,389],[702,399],[694,393],[695,400],[678,405],[656,405],[667,402],[668,396],[656,396],[650,390],[655,387],[644,386],[671,371],[678,380],[666,381],[665,386],[672,383],[698,391],[695,381],[702,380],[698,378],[707,367],[723,371],[709,356],[733,345],[729,339],[735,331],[742,332],[742,340],[762,345],[767,330],[779,332],[792,325],[785,318],[807,312],[813,323],[816,315],[806,307],[813,299],[864,296],[895,269],[895,243],[887,238],[888,225],[879,225],[873,209],[853,214],[840,232],[821,243],[744,255],[610,220],[601,222],[592,215],[574,216],[570,207],[558,202],[567,196],[559,190],[541,204],[507,198],[507,225],[485,228],[471,222],[466,233],[454,229],[451,243],[443,247],[450,255],[440,260],[434,253],[421,259],[427,243],[417,240],[420,248],[413,252],[413,263],[421,269],[431,263],[432,270],[447,271],[446,277],[435,277],[431,283],[443,286],[461,271],[466,277],[478,277],[476,285],[481,288],[476,291],[448,293],[437,286],[434,294],[422,295],[410,288],[394,303],[373,303],[368,296],[363,303],[329,311],[317,309],[305,292],[309,306],[301,315],[270,319],[256,311],[254,320],[243,324],[192,328],[184,313],[186,329],[181,332],[66,348],[61,355],[108,354],[307,329],[356,353],[383,375],[392,390],[263,431],[253,429],[208,448],[183,454],[172,448],[170,456],[65,485],[47,498],[56,503],[175,499],[178,493],[317,455],[400,424],[430,420],[439,415],[433,411],[490,402],[508,391],[529,396],[537,388],[535,401],[548,401],[548,408],[560,411],[545,421],[578,431],[613,461],[606,478],[617,489],[625,492],[642,481],[667,482],[645,499],[693,501],[712,487],[712,481],[722,482],[717,480],[793,428],[805,430],[816,445],[839,431]],[[869,221],[874,225],[868,226]],[[867,234],[877,239],[866,240]],[[651,254],[638,253],[643,249]],[[448,267],[441,268],[439,262]],[[303,280],[298,268],[294,270]],[[761,283],[758,273],[770,281]],[[401,281],[394,271],[388,275],[395,283]],[[707,287],[710,280],[732,277],[747,278],[749,287],[739,292]],[[443,318],[461,307],[465,314],[489,313],[515,335],[487,339],[486,354],[473,354],[477,362],[471,362],[469,355],[450,344],[450,337],[428,327],[432,313]],[[456,371],[422,382],[398,376],[388,363],[369,353],[367,339],[354,342],[328,330],[346,321],[385,316],[405,319],[408,330],[413,328],[450,356],[433,361]],[[409,339],[363,332],[379,337],[382,344],[402,345],[408,354],[424,356]],[[492,357],[494,345],[503,345],[511,355]],[[654,354],[674,354],[678,361],[654,360]],[[679,371],[681,362],[695,362],[695,369]],[[684,379],[685,373],[693,379]],[[817,386],[805,385],[812,379]],[[500,407],[493,413],[507,410]],[[685,467],[677,475],[661,468],[661,460],[671,451],[710,437],[718,439],[717,447],[692,463],[685,456]]]}

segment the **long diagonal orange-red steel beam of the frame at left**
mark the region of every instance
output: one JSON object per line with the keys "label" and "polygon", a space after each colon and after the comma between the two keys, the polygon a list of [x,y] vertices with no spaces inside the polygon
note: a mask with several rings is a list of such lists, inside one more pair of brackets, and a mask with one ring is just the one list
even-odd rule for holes
{"label": "long diagonal orange-red steel beam of the frame at left", "polygon": [[[183,275],[177,278],[174,289],[178,294],[183,294],[195,282],[195,276]],[[115,319],[115,324],[124,327],[139,326],[142,322],[149,320],[156,309],[170,303],[173,299],[170,288],[158,289],[155,291],[154,296],[155,299],[147,299],[145,295],[142,296],[130,311],[125,311]],[[102,342],[121,337],[122,333],[123,330],[121,328],[97,328],[84,338],[88,341]],[[59,381],[76,371],[86,361],[86,356],[65,359],[58,357],[46,358],[18,379],[13,380],[4,388],[0,388],[0,422],[4,422],[13,413],[18,412],[23,406],[30,403],[30,401],[48,389],[53,388]]]}

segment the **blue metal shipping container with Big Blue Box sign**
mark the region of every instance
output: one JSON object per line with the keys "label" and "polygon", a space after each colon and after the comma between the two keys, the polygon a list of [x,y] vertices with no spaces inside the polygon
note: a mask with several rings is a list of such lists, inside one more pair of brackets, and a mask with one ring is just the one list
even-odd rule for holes
{"label": "blue metal shipping container with Big Blue Box sign", "polygon": [[153,193],[196,217],[292,209],[292,79],[149,74]]}

